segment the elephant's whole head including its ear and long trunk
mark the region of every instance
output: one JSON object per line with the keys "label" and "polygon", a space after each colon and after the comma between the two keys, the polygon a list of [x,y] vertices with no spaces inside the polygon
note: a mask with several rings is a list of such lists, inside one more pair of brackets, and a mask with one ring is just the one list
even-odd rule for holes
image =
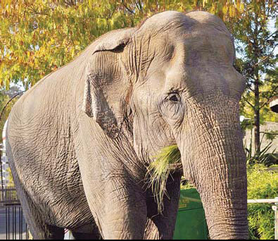
{"label": "elephant's whole head including its ear and long trunk", "polygon": [[84,111],[112,139],[127,118],[139,159],[177,144],[211,238],[248,235],[244,79],[233,61],[233,40],[219,18],[168,11],[97,40],[85,85]]}

